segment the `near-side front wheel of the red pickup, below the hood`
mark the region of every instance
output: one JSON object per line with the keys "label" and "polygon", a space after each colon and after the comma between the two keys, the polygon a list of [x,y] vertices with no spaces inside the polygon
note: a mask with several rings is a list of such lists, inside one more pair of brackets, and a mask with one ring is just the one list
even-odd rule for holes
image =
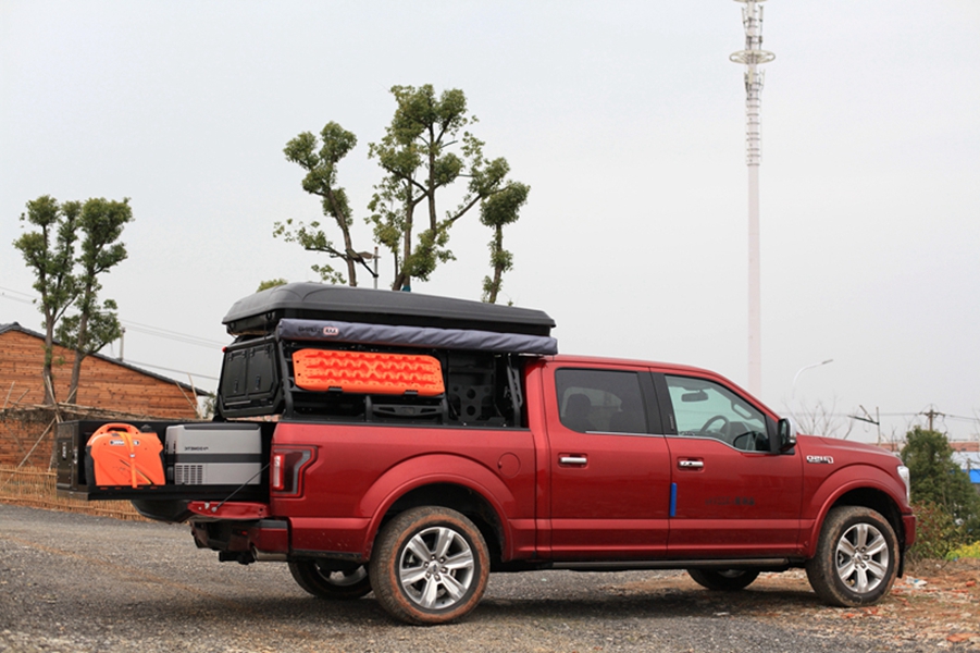
{"label": "near-side front wheel of the red pickup, below the hood", "polygon": [[841,506],[828,513],[806,576],[829,605],[871,605],[895,582],[898,555],[888,519],[870,508]]}

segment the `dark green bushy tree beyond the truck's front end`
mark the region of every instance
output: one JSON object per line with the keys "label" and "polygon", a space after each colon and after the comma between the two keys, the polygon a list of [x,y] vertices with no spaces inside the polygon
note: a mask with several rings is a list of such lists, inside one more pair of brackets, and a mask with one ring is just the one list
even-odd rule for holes
{"label": "dark green bushy tree beyond the truck's front end", "polygon": [[[969,476],[953,461],[948,439],[916,427],[906,435],[902,460],[911,476],[911,500],[947,514],[965,539],[980,535],[980,495]],[[958,544],[959,542],[953,542]]]}

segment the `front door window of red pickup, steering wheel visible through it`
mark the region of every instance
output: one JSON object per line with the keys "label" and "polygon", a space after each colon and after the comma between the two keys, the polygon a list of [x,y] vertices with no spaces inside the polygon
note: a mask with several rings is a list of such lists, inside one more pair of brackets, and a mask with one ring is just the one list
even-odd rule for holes
{"label": "front door window of red pickup, steering wheel visible through it", "polygon": [[769,451],[766,418],[727,387],[690,377],[667,377],[678,435],[714,438],[745,452]]}

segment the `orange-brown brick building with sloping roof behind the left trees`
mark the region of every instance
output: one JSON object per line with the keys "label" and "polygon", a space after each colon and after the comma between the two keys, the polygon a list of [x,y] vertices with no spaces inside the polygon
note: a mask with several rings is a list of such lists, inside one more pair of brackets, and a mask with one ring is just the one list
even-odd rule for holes
{"label": "orange-brown brick building with sloping roof behind the left trees", "polygon": [[[64,401],[72,381],[75,353],[54,345],[54,394]],[[51,452],[53,411],[45,402],[41,369],[45,336],[16,322],[0,324],[0,464],[18,465],[30,453],[29,463],[47,465]],[[57,361],[63,361],[60,365]],[[121,419],[197,418],[197,401],[207,393],[160,374],[121,362],[101,354],[82,361],[78,393],[72,405],[59,407],[63,419],[87,417]],[[41,435],[44,433],[44,438]],[[35,446],[38,439],[41,442]]]}

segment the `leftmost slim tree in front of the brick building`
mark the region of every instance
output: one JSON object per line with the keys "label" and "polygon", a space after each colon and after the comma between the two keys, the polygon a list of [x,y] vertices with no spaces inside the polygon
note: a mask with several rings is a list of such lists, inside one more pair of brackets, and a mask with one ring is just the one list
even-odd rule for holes
{"label": "leftmost slim tree in front of the brick building", "polygon": [[41,370],[45,385],[45,403],[54,403],[54,380],[51,365],[54,352],[54,329],[71,307],[76,296],[75,242],[78,238],[76,223],[82,212],[77,201],[59,205],[50,195],[42,195],[27,202],[27,212],[21,222],[37,227],[22,234],[13,245],[34,272],[34,289],[40,295],[38,309],[45,316],[45,364]]}

